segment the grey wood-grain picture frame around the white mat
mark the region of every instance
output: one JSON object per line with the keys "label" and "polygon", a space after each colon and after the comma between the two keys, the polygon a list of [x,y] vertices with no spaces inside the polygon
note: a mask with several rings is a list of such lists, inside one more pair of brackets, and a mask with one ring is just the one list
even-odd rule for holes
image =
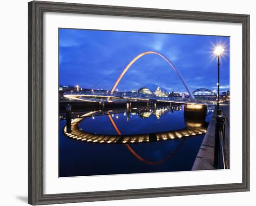
{"label": "grey wood-grain picture frame around the white mat", "polygon": [[[43,13],[241,23],[243,27],[243,182],[86,193],[43,193]],[[28,203],[31,205],[249,191],[249,15],[32,1],[28,3]]]}

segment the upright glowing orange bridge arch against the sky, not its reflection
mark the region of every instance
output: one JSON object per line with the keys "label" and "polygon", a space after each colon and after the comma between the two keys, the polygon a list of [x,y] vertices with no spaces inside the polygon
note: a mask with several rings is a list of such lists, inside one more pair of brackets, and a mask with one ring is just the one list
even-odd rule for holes
{"label": "upright glowing orange bridge arch against the sky, not its reflection", "polygon": [[[119,82],[121,81],[123,75],[127,72],[127,70],[130,68],[130,66],[132,66],[133,63],[135,63],[135,61],[137,61],[138,59],[140,59],[142,56],[147,55],[147,54],[150,54],[150,53],[156,54],[156,55],[162,57],[164,60],[166,60],[166,61],[168,62],[168,64],[174,69],[174,71],[178,74],[179,78],[182,80],[182,83],[183,83],[183,85],[186,87],[186,89],[187,89],[187,91],[188,91],[188,93],[189,93],[190,98],[191,98],[191,99],[195,99],[193,93],[190,92],[189,87],[187,86],[187,84],[186,84],[185,80],[183,79],[182,75],[181,75],[181,74],[178,72],[178,70],[173,66],[173,64],[172,64],[166,57],[164,57],[161,53],[157,53],[157,52],[153,52],[153,51],[144,52],[144,53],[141,53],[141,54],[139,54],[138,56],[136,56],[136,57],[125,67],[125,69],[122,71],[122,73],[120,74],[120,76],[119,76],[118,79],[116,80],[114,86],[112,87],[111,93],[113,93],[113,92],[115,91],[116,86],[119,84]],[[110,98],[108,97],[107,101],[109,101],[109,99],[110,99]]]}

